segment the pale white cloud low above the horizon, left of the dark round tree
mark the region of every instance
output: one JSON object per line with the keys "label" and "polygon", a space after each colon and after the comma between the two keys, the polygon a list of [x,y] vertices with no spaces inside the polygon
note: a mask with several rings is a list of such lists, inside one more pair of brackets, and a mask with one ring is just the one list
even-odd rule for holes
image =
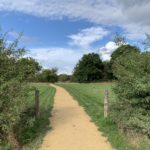
{"label": "pale white cloud low above the horizon, left of the dark round tree", "polygon": [[71,74],[78,60],[85,53],[90,51],[81,51],[68,48],[37,48],[31,49],[26,57],[30,56],[36,59],[44,68],[57,67],[60,73]]}

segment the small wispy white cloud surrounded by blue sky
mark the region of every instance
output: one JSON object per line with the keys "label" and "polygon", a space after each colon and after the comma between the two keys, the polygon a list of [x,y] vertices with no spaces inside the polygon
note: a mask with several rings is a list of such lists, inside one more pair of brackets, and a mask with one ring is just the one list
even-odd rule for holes
{"label": "small wispy white cloud surrounded by blue sky", "polygon": [[83,48],[89,48],[90,45],[98,40],[101,40],[104,36],[108,35],[108,31],[101,27],[91,27],[81,30],[77,34],[70,35],[70,44]]}

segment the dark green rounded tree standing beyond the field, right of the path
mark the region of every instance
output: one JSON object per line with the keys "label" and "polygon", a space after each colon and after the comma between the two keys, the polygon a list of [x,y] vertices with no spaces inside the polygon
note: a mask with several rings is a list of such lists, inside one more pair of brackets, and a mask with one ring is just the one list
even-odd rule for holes
{"label": "dark green rounded tree standing beyond the field, right of the path", "polygon": [[78,82],[93,82],[102,79],[103,64],[98,54],[83,55],[74,68],[73,76]]}

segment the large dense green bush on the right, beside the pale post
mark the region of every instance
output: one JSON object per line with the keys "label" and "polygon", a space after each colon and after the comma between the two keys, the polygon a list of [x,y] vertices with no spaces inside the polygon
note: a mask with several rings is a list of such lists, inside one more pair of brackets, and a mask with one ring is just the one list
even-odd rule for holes
{"label": "large dense green bush on the right, beside the pale post", "polygon": [[118,79],[113,120],[120,128],[150,136],[150,52],[132,51],[116,58],[113,74]]}

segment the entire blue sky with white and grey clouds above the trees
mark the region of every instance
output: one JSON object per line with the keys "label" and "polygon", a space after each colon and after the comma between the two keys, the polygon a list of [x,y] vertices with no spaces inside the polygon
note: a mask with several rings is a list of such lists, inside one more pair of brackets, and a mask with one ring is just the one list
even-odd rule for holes
{"label": "entire blue sky with white and grey clouds above the trees", "polygon": [[26,56],[59,73],[71,74],[89,52],[109,60],[116,32],[136,45],[150,32],[149,15],[149,0],[0,0],[0,26],[8,42],[23,32]]}

